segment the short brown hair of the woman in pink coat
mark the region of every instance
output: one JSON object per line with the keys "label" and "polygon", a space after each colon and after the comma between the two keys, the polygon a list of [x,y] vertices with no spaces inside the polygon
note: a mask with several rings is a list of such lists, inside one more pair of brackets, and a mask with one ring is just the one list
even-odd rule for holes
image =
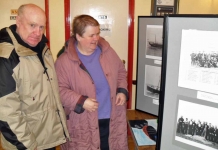
{"label": "short brown hair of the woman in pink coat", "polygon": [[99,26],[98,21],[89,15],[78,15],[73,19],[72,36],[76,39],[76,34],[82,36],[87,26]]}

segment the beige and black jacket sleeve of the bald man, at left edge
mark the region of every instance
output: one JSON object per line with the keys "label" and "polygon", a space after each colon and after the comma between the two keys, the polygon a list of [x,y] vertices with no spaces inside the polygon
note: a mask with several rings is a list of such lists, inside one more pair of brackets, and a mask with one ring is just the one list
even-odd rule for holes
{"label": "beige and black jacket sleeve of the bald man, at left edge", "polygon": [[18,66],[19,58],[14,50],[8,58],[0,56],[0,130],[3,137],[2,146],[4,147],[4,145],[10,143],[17,149],[32,150],[37,143],[21,112],[18,78],[14,73]]}

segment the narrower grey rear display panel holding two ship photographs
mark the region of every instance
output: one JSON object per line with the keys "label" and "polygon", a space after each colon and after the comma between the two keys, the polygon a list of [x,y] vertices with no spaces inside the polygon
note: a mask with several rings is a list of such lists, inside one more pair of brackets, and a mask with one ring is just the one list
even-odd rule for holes
{"label": "narrower grey rear display panel holding two ship photographs", "polygon": [[158,115],[163,17],[138,17],[136,110]]}

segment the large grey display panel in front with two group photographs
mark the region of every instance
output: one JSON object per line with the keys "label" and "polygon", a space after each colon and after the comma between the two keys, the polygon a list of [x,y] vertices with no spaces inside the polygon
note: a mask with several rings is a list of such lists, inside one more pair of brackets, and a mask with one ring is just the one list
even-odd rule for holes
{"label": "large grey display panel in front with two group photographs", "polygon": [[157,150],[216,150],[218,16],[165,16],[163,30]]}

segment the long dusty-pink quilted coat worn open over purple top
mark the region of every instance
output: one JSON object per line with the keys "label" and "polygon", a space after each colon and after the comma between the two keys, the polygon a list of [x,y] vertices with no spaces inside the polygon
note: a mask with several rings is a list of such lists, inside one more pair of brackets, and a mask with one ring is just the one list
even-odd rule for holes
{"label": "long dusty-pink quilted coat worn open over purple top", "polygon": [[[59,90],[62,104],[67,115],[68,130],[71,141],[62,145],[62,150],[98,150],[100,149],[98,111],[83,113],[74,112],[80,97],[96,98],[96,89],[89,74],[80,67],[80,60],[75,50],[76,41],[70,38],[65,52],[57,59]],[[128,150],[126,105],[116,106],[116,91],[118,88],[127,90],[127,73],[124,64],[110,47],[109,43],[100,38],[98,46],[102,53],[100,63],[111,90],[110,118],[110,150]]]}

